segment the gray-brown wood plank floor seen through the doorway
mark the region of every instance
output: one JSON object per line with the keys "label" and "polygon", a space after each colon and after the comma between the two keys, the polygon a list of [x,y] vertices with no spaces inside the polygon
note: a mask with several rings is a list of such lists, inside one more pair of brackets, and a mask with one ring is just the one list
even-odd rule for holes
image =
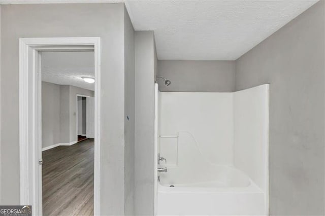
{"label": "gray-brown wood plank floor seen through the doorway", "polygon": [[93,215],[93,139],[42,157],[43,215]]}

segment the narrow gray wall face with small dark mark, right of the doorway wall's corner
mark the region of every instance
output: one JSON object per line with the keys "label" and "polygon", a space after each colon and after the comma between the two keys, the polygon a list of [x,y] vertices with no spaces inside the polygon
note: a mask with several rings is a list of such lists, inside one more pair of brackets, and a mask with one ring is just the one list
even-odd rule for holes
{"label": "narrow gray wall face with small dark mark, right of the doorway wall's corner", "polygon": [[135,49],[134,28],[124,8],[124,70],[125,70],[125,215],[134,215],[134,186],[135,186]]}

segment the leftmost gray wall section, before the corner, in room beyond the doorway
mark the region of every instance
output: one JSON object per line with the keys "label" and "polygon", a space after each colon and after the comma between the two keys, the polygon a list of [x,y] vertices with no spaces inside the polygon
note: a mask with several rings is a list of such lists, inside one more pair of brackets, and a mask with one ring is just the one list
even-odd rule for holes
{"label": "leftmost gray wall section, before the corner, in room beyond the doorway", "polygon": [[42,148],[60,143],[60,86],[42,82]]}

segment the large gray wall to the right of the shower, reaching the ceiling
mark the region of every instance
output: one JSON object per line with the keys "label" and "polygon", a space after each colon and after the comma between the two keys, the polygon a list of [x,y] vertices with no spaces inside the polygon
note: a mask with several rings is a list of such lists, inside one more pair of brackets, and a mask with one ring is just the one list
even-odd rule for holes
{"label": "large gray wall to the right of the shower, reaching the ceiling", "polygon": [[324,1],[236,61],[236,90],[270,83],[270,213],[324,215]]}

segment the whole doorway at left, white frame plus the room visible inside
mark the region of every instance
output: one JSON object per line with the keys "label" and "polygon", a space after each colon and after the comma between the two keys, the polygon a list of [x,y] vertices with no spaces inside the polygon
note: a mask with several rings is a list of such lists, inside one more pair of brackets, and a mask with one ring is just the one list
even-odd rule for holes
{"label": "whole doorway at left, white frame plus the room visible inside", "polygon": [[[91,53],[92,86],[84,62],[60,53]],[[100,214],[100,38],[20,39],[19,64],[20,203],[33,215]],[[92,101],[92,134],[80,142],[77,94]]]}

